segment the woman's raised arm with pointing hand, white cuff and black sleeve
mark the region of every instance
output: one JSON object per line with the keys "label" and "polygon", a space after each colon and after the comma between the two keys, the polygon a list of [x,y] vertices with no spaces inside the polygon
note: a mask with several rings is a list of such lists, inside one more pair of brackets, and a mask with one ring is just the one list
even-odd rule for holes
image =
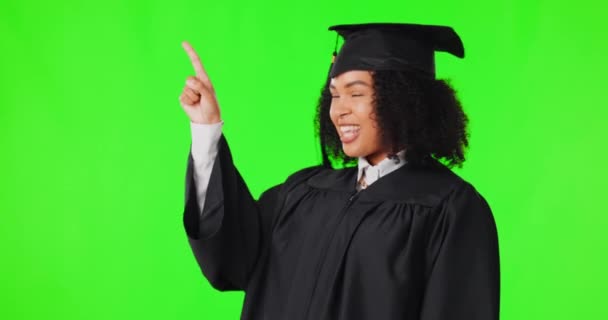
{"label": "woman's raised arm with pointing hand, white cuff and black sleeve", "polygon": [[[184,227],[203,274],[219,290],[246,290],[263,247],[278,188],[259,201],[233,164],[215,92],[194,49],[183,44],[196,76],[180,96],[191,120],[192,147],[186,172]],[[265,227],[266,226],[266,227]]]}

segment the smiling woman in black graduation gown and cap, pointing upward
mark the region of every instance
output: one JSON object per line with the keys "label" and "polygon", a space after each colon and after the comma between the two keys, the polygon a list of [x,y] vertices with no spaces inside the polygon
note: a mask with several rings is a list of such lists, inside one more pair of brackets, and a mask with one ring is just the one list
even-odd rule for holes
{"label": "smiling woman in black graduation gown and cap, pointing upward", "polygon": [[494,219],[449,169],[465,160],[467,118],[435,79],[434,52],[463,57],[460,38],[411,24],[330,30],[345,42],[318,106],[323,165],[257,201],[184,44],[196,70],[180,96],[193,140],[184,223],[203,274],[245,291],[242,319],[498,319]]}

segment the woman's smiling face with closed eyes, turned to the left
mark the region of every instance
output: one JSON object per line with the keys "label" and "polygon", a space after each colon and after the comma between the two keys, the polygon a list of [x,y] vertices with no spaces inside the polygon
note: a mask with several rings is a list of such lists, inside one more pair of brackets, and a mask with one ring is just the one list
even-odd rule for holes
{"label": "woman's smiling face with closed eyes, turned to the left", "polygon": [[369,71],[348,71],[331,79],[329,116],[344,153],[352,158],[365,157],[375,165],[388,155],[375,120],[373,78]]}

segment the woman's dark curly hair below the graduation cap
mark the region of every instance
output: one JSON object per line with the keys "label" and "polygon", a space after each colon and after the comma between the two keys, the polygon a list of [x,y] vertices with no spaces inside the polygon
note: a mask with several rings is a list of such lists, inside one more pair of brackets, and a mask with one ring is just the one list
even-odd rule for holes
{"label": "woman's dark curly hair below the graduation cap", "polygon": [[[389,157],[405,149],[408,163],[421,166],[462,167],[469,145],[468,118],[456,92],[445,80],[417,71],[374,71],[375,119]],[[356,158],[344,154],[329,117],[329,80],[321,90],[315,127],[321,143],[323,165],[346,167]]]}

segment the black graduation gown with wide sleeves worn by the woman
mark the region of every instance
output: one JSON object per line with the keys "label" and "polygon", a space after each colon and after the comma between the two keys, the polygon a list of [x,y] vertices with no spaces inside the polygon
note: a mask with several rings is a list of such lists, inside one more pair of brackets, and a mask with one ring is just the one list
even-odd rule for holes
{"label": "black graduation gown with wide sleeves worn by the woman", "polygon": [[251,196],[225,138],[205,207],[192,156],[184,224],[218,290],[244,290],[248,320],[498,319],[496,226],[447,168],[406,164],[355,191],[357,169],[303,169]]}

